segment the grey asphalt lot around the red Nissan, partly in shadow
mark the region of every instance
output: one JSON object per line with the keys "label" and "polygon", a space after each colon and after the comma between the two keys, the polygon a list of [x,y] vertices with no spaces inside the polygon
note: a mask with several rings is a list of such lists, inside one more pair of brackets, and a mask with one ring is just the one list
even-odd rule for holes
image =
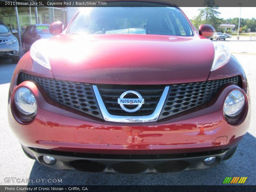
{"label": "grey asphalt lot around the red Nissan, partly in shadow", "polygon": [[[167,174],[119,175],[54,170],[28,159],[10,130],[7,119],[7,95],[16,64],[12,64],[11,60],[0,60],[0,185],[53,184],[53,182],[45,182],[48,179],[61,180],[59,183],[54,183],[57,185],[221,185],[226,177],[248,177],[244,185],[255,185],[256,42],[222,41],[221,43],[231,49],[247,75],[252,100],[250,128],[231,159],[211,169]],[[16,179],[14,179],[16,182],[12,180],[8,182],[8,178],[30,179],[30,181],[33,179],[34,183],[17,182]],[[37,182],[38,179],[40,182]]]}

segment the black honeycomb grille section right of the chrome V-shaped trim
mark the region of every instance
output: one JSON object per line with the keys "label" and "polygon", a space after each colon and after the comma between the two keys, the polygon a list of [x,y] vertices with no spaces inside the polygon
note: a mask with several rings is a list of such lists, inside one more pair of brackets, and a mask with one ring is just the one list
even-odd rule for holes
{"label": "black honeycomb grille section right of the chrome V-shaped trim", "polygon": [[227,83],[241,85],[241,77],[234,76],[213,81],[172,84],[158,120],[197,107],[212,99],[217,90]]}

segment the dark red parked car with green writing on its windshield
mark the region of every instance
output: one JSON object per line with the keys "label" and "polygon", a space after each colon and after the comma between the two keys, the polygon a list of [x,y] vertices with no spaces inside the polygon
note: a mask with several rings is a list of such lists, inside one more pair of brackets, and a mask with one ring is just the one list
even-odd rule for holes
{"label": "dark red parked car with green writing on its windshield", "polygon": [[24,52],[28,52],[31,45],[37,41],[38,39],[42,38],[51,38],[52,35],[49,31],[49,26],[47,24],[35,24],[29,25],[26,27],[24,33],[21,37],[22,47]]}

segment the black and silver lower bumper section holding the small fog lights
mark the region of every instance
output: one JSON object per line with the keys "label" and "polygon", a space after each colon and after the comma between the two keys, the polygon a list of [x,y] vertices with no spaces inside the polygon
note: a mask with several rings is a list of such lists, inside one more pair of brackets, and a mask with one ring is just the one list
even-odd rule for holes
{"label": "black and silver lower bumper section holding the small fog lights", "polygon": [[[236,151],[236,147],[234,147],[200,153],[172,155],[108,155],[60,152],[24,146],[23,148],[29,155],[35,157],[40,164],[50,168],[124,174],[169,173],[207,169],[219,164],[222,160],[228,159]],[[53,165],[44,163],[43,156],[54,157],[56,163]],[[216,157],[215,163],[205,165],[203,160],[212,156]]]}

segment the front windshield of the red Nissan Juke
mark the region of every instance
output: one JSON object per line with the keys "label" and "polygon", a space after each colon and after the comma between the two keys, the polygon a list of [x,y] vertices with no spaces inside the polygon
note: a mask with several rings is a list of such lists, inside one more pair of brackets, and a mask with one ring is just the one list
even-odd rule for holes
{"label": "front windshield of the red Nissan Juke", "polygon": [[193,36],[188,20],[175,7],[84,8],[68,33]]}

